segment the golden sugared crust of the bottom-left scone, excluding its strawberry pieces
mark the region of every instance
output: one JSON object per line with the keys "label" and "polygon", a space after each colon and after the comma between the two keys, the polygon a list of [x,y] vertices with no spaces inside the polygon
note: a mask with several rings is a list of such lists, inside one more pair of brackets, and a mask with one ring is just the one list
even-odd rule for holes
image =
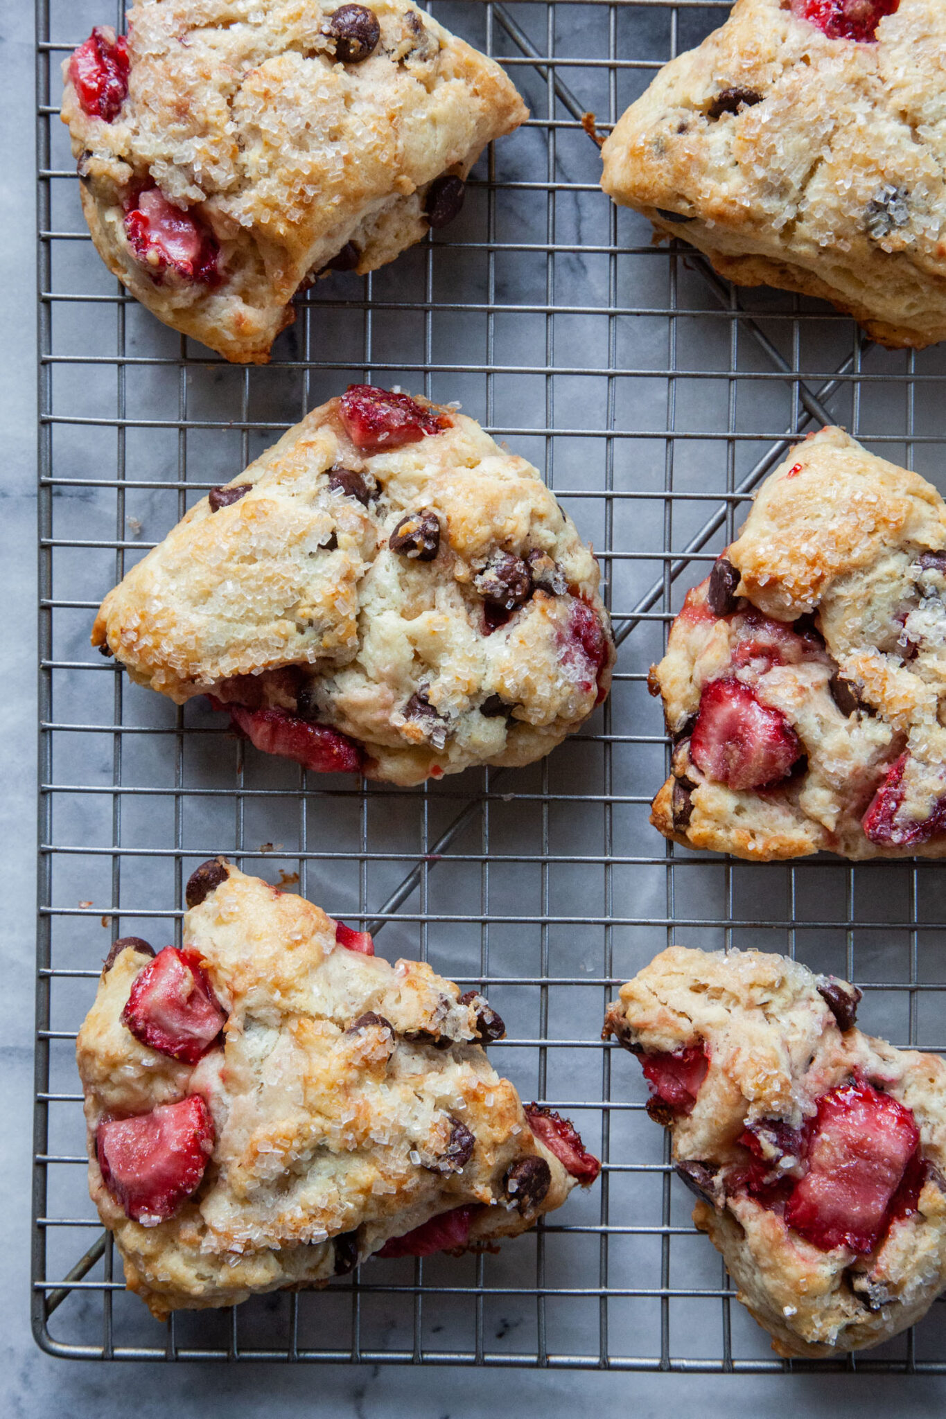
{"label": "golden sugared crust of the bottom-left scone, excluding its strawberry pieces", "polygon": [[[423,962],[345,949],[319,907],[221,863],[224,880],[186,914],[183,939],[227,1012],[223,1047],[190,1066],[125,1027],[150,959],[133,946],[102,972],[77,1043],[89,1192],[152,1313],[325,1284],[339,1269],[336,1237],[342,1260],[363,1261],[454,1208],[474,1206],[477,1244],[560,1206],[576,1179],[477,1043],[482,999],[460,999]],[[352,1030],[369,1012],[380,1025]],[[216,1128],[204,1179],[170,1219],[130,1220],[102,1181],[98,1125],[190,1094]],[[457,1118],[475,1147],[458,1171],[438,1171]],[[503,1178],[523,1158],[545,1159],[550,1183],[521,1209]]]}

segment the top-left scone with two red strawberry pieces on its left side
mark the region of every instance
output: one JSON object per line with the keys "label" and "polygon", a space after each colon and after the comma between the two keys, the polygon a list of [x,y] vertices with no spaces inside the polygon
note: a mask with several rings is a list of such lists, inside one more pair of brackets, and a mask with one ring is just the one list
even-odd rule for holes
{"label": "top-left scone with two red strawberry pieces on its left side", "polygon": [[64,64],[82,210],[166,325],[264,363],[292,297],[445,226],[528,109],[411,0],[139,0]]}

